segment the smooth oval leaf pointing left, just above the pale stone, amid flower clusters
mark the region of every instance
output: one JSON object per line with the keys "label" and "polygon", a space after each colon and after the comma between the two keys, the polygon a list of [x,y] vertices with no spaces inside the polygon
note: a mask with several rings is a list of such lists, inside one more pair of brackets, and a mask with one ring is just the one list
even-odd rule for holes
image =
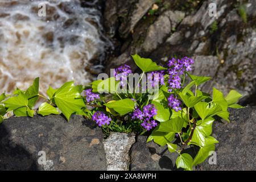
{"label": "smooth oval leaf pointing left, just above the pale stone, amid flower clusters", "polygon": [[105,106],[114,109],[120,115],[125,115],[134,110],[134,101],[130,98],[125,98],[123,100],[109,102],[104,104]]}

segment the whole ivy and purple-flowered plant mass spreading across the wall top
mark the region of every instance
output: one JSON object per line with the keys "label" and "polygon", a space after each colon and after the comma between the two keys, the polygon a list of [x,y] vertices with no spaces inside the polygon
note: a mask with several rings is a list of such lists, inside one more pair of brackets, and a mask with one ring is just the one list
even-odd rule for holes
{"label": "whole ivy and purple-flowered plant mass spreading across the wall top", "polygon": [[[242,108],[237,104],[242,95],[236,90],[226,96],[217,88],[212,94],[200,90],[210,77],[191,75],[194,61],[189,57],[172,58],[166,67],[139,55],[132,57],[141,75],[133,75],[129,65],[121,65],[114,69],[113,77],[89,85],[69,81],[57,89],[49,86],[46,96],[39,93],[39,78],[27,90],[3,93],[0,122],[11,113],[16,117],[62,113],[67,121],[72,114],[83,115],[96,122],[106,136],[112,131],[147,135],[147,142],[177,153],[177,168],[192,170],[215,150],[214,121],[229,122],[228,108]],[[45,101],[35,108],[39,97]],[[199,149],[195,156],[185,152],[191,147]]]}

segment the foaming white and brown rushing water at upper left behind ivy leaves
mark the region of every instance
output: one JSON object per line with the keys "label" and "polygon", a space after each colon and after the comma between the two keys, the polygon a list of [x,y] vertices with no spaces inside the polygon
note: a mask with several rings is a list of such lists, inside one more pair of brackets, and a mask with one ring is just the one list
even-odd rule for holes
{"label": "foaming white and brown rushing water at upper left behind ivy leaves", "polygon": [[88,83],[85,68],[108,46],[101,29],[100,12],[78,0],[0,0],[0,93],[26,89],[38,76],[44,93],[69,80]]}

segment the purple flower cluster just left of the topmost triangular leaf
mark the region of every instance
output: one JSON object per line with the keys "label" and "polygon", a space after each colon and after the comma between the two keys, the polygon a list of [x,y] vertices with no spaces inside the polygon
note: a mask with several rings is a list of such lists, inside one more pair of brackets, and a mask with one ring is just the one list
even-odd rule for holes
{"label": "purple flower cluster just left of the topmost triangular leaf", "polygon": [[126,64],[121,65],[120,67],[115,68],[114,70],[115,80],[120,81],[121,86],[125,86],[127,82],[127,76],[129,75],[129,73],[133,73],[131,71],[131,67]]}

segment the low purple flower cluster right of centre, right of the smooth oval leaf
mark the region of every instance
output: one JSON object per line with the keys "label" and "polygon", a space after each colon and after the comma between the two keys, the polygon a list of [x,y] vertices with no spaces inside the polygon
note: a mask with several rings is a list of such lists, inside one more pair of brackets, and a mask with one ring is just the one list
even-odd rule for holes
{"label": "low purple flower cluster right of centre, right of the smooth oval leaf", "polygon": [[153,127],[156,127],[158,123],[154,119],[154,115],[157,114],[157,110],[153,104],[148,104],[143,107],[143,112],[140,109],[136,109],[131,116],[132,119],[143,120],[141,126],[144,127],[147,131],[151,130]]}

